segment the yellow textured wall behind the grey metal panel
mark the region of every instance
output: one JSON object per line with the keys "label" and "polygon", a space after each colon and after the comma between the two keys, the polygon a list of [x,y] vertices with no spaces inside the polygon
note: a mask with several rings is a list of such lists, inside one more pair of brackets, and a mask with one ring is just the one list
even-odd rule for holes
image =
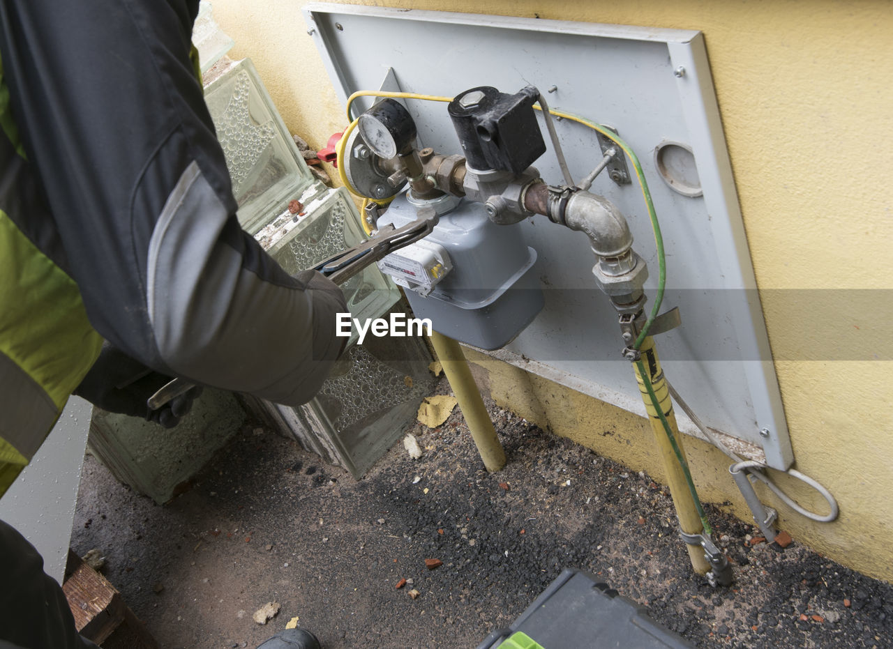
{"label": "yellow textured wall behind the grey metal panel", "polygon": [[[353,4],[378,4],[372,2]],[[783,527],[867,574],[893,578],[893,379],[883,332],[893,300],[849,310],[841,295],[790,290],[887,288],[893,276],[893,12],[887,2],[530,2],[426,0],[401,8],[496,12],[705,33],[722,121],[776,358],[797,469],[837,495],[840,518],[817,525],[778,506]],[[213,0],[288,126],[312,146],[343,129],[299,1]],[[875,294],[878,295],[878,294]],[[812,298],[812,299],[811,299]],[[816,309],[815,304],[823,304]],[[880,339],[879,339],[880,337]],[[829,345],[839,358],[821,360]],[[816,349],[815,347],[818,347]],[[818,360],[809,360],[818,359]],[[647,422],[543,379],[479,359],[497,398],[633,469],[662,475]],[[518,397],[516,395],[523,395]],[[532,398],[535,395],[536,398]],[[706,499],[740,498],[722,455],[691,440]],[[805,504],[821,509],[812,495]]]}

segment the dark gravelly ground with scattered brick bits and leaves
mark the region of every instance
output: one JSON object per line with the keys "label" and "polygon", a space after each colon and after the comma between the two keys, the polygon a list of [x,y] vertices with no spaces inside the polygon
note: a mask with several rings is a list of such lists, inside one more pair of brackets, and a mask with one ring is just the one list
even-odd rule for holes
{"label": "dark gravelly ground with scattered brick bits and leaves", "polygon": [[[294,617],[326,649],[474,647],[566,567],[697,646],[893,642],[889,584],[796,540],[783,553],[751,545],[755,528],[708,507],[736,578],[714,589],[692,575],[663,487],[488,407],[508,455],[495,474],[458,409],[437,429],[411,427],[420,460],[397,444],[360,481],[247,425],[163,507],[88,457],[72,547],[104,553],[164,649],[254,647]],[[268,602],[279,614],[256,623]]]}

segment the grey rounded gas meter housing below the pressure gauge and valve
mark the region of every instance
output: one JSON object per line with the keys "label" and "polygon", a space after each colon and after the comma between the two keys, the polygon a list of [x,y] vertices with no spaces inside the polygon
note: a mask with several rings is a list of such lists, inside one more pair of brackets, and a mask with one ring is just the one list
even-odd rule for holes
{"label": "grey rounded gas meter housing below the pressure gauge and valve", "polygon": [[[543,308],[536,251],[524,244],[517,226],[496,225],[482,204],[455,196],[418,201],[401,194],[379,225],[400,228],[416,220],[417,209],[424,206],[440,216],[425,241],[443,246],[453,269],[427,296],[406,291],[415,317],[430,319],[432,329],[468,345],[507,345]],[[381,268],[388,272],[385,265]]]}

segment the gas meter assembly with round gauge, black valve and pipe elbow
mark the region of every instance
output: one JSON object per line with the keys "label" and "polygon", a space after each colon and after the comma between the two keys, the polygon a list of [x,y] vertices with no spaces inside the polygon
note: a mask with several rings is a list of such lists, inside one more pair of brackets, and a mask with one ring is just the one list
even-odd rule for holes
{"label": "gas meter assembly with round gauge, black valve and pipe elbow", "polygon": [[575,185],[563,158],[560,186],[548,186],[530,166],[546,151],[537,103],[545,108],[535,87],[513,95],[472,87],[455,96],[447,112],[463,155],[416,150],[413,118],[393,98],[364,112],[346,141],[343,163],[354,187],[379,201],[396,196],[380,227],[409,228],[421,213],[437,216],[429,235],[388,254],[380,269],[407,289],[416,316],[484,349],[508,344],[543,307],[537,253],[518,227],[535,213],[584,232],[599,287],[619,313],[637,323],[642,318],[647,267],[632,250],[622,213]]}

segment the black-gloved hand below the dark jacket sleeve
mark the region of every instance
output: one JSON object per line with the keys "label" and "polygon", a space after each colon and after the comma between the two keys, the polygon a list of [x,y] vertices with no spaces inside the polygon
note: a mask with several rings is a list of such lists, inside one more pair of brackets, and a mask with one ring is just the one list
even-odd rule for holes
{"label": "black-gloved hand below the dark jacket sleeve", "polygon": [[145,417],[147,421],[172,429],[192,408],[202,388],[193,387],[158,410],[150,410],[146,401],[170,380],[171,377],[146,367],[106,342],[74,394],[108,412]]}

